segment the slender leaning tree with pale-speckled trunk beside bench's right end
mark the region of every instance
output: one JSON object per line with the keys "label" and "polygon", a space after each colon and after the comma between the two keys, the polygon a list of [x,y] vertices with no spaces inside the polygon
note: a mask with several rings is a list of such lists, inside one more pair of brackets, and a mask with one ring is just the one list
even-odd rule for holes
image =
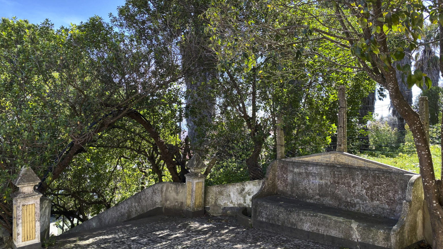
{"label": "slender leaning tree with pale-speckled trunk beside bench's right end", "polygon": [[[329,18],[332,13],[332,20],[340,23],[340,32],[327,31],[327,24],[319,21],[313,24],[314,27],[318,27],[314,28],[315,35],[332,37],[338,46],[349,47],[361,68],[388,90],[393,106],[412,131],[420,161],[420,174],[425,198],[431,216],[433,248],[442,248],[443,220],[441,214],[443,203],[440,202],[438,196],[439,183],[435,179],[429,142],[418,113],[410,107],[400,91],[396,68],[408,74],[408,87],[413,84],[422,87],[424,82],[427,87],[431,87],[432,82],[419,69],[412,73],[410,65],[395,68],[393,64],[393,61],[400,61],[404,58],[405,49],[413,50],[420,45],[417,39],[428,8],[421,1],[406,2],[400,5],[391,1],[370,0],[362,1],[361,4],[330,1],[330,4],[326,5],[326,9],[330,11],[328,12]],[[323,16],[326,16],[326,13]],[[431,12],[431,20],[435,20],[435,12]],[[352,25],[352,23],[359,23],[359,26]],[[404,34],[405,41],[400,43],[398,47],[389,47],[389,40],[394,38],[396,34]]]}

